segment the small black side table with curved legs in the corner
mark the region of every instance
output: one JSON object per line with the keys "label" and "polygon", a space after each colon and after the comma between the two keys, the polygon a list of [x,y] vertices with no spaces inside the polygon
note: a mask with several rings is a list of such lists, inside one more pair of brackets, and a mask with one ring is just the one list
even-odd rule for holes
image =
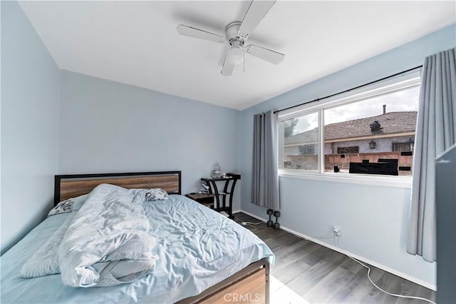
{"label": "small black side table with curved legs in the corner", "polygon": [[[234,173],[227,173],[227,177],[225,178],[201,178],[201,181],[207,183],[209,186],[209,193],[215,196],[216,207],[215,211],[225,211],[228,213],[229,218],[233,218],[233,196],[234,193],[234,186],[236,186],[237,180],[241,179],[239,174]],[[219,192],[217,188],[217,181],[224,181],[223,192]],[[229,182],[231,183],[231,188],[229,188]],[[220,206],[220,196],[222,196],[222,206]],[[227,206],[227,196],[229,196],[229,204]]]}

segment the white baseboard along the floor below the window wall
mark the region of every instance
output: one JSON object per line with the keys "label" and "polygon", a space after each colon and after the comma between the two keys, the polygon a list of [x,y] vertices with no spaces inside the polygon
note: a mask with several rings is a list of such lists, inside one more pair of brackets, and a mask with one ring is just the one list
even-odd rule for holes
{"label": "white baseboard along the floor below the window wall", "polygon": [[[247,211],[244,211],[244,210],[241,210],[241,211],[236,211],[236,212],[242,212],[242,213],[245,213],[249,216],[252,216],[252,218],[257,218],[257,220],[259,221],[263,221],[266,223],[266,218],[261,218],[261,216],[256,216],[254,215],[253,213],[249,213]],[[233,211],[234,213],[234,211]],[[328,243],[324,243],[323,241],[321,240],[318,240],[316,238],[311,238],[309,235],[305,235],[305,234],[302,234],[302,233],[299,233],[293,229],[290,229],[290,228],[286,228],[285,226],[282,226],[282,224],[280,225],[280,228],[285,230],[285,231],[288,231],[289,233],[293,233],[294,235],[298,235],[300,236],[301,238],[305,238],[306,240],[311,240],[312,242],[314,243],[317,243],[319,245],[322,245],[326,248],[330,248],[332,250],[336,250],[337,252],[339,253],[343,253],[345,254],[340,248],[337,248],[336,246],[333,246],[333,245],[330,245]],[[367,258],[363,258],[362,256],[360,255],[356,255],[354,253],[351,253],[349,251],[346,251],[346,253],[348,253],[349,255],[351,255],[353,258],[356,258],[357,260],[361,260],[362,262],[365,262],[365,263],[368,263],[370,265],[373,265],[375,266],[376,268],[380,268],[382,270],[385,270],[387,271],[388,273],[393,273],[393,275],[398,275],[398,277],[400,278],[405,278],[405,280],[410,280],[410,282],[413,282],[413,283],[417,283],[418,285],[422,285],[424,286],[425,288],[429,288],[431,290],[437,290],[437,285],[435,284],[431,284],[431,283],[428,283],[428,282],[425,282],[423,280],[420,280],[419,278],[415,278],[413,275],[408,275],[408,274],[405,274],[405,273],[402,273],[398,270],[395,270],[393,268],[389,268],[388,266],[385,266],[385,265],[382,265],[380,263],[376,263],[374,262],[373,260],[369,260]]]}

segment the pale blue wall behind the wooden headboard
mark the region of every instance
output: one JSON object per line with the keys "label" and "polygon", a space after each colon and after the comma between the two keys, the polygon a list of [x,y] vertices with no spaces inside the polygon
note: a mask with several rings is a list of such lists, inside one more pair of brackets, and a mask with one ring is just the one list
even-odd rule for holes
{"label": "pale blue wall behind the wooden headboard", "polygon": [[62,71],[59,172],[181,170],[182,193],[198,191],[215,161],[238,171],[237,121],[237,110]]}

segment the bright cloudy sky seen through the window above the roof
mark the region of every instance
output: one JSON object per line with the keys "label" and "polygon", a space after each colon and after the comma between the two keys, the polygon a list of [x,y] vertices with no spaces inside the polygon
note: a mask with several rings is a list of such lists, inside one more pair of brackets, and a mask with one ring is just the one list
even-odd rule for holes
{"label": "bright cloudy sky seen through the window above the roof", "polygon": [[[383,96],[368,98],[363,101],[348,103],[343,106],[327,108],[323,111],[325,125],[338,123],[341,121],[351,121],[353,119],[383,114],[383,105],[386,105],[386,112],[398,111],[418,111],[418,98],[420,87],[416,86],[403,91],[397,91]],[[318,126],[317,113],[311,113],[300,117],[294,133],[309,131]]]}

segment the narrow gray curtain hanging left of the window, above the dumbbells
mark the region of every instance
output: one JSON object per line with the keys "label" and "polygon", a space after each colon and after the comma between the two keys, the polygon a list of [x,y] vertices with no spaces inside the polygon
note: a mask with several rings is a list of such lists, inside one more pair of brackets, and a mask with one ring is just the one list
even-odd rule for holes
{"label": "narrow gray curtain hanging left of the window, above the dumbbells", "polygon": [[254,116],[252,203],[279,210],[277,175],[277,116],[273,111]]}

